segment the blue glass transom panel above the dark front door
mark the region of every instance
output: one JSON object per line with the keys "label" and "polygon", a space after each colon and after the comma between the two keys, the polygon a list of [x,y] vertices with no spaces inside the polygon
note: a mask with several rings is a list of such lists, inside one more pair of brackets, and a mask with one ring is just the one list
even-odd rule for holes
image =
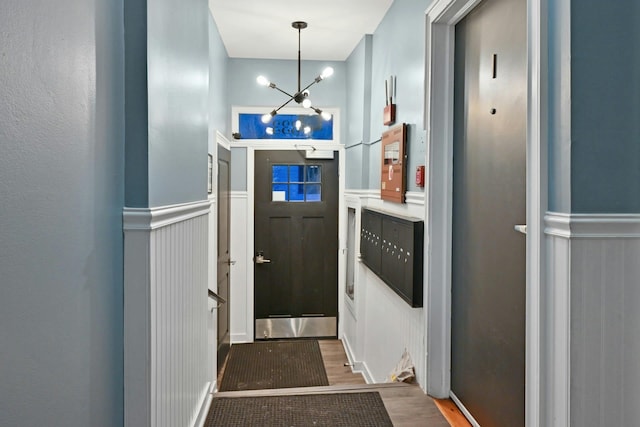
{"label": "blue glass transom panel above the dark front door", "polygon": [[[262,123],[262,114],[241,113],[238,115],[238,132],[242,139],[317,139],[333,140],[333,118],[324,120],[319,115],[277,114],[271,122]],[[296,121],[300,120],[299,129]],[[311,128],[308,134],[305,127]],[[267,133],[267,128],[273,129],[273,134]]]}

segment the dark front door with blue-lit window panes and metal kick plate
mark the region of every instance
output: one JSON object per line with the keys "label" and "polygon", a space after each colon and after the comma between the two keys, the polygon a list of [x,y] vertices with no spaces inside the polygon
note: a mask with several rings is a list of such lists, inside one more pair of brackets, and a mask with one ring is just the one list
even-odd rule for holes
{"label": "dark front door with blue-lit window panes and metal kick plate", "polygon": [[335,337],[338,161],[256,151],[255,338]]}

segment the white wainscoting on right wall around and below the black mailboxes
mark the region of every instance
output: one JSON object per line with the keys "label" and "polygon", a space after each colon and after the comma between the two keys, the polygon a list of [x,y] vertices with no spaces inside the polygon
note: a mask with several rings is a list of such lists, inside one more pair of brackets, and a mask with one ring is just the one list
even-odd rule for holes
{"label": "white wainscoting on right wall around and below the black mailboxes", "polygon": [[[356,248],[359,252],[360,211],[364,207],[382,210],[399,216],[424,218],[424,193],[407,194],[407,203],[389,203],[380,199],[376,190],[350,190],[345,192],[347,208],[356,209],[358,217]],[[400,361],[406,348],[416,367],[416,378],[424,388],[426,384],[426,323],[423,308],[412,308],[369,270],[356,254],[355,300],[345,299],[346,310],[341,314],[344,322],[342,339],[354,370],[360,371],[367,382],[385,382]]]}

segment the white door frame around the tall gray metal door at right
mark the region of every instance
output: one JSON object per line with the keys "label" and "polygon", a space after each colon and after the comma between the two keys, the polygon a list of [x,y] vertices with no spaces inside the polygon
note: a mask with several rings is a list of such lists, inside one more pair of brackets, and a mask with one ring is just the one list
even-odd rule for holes
{"label": "white door frame around the tall gray metal door at right", "polygon": [[[453,204],[453,82],[455,25],[480,0],[436,0],[426,10],[425,128],[427,163],[427,392],[451,391],[451,224]],[[540,289],[544,279],[547,208],[545,90],[546,0],[527,1],[527,277],[525,423],[540,423]]]}

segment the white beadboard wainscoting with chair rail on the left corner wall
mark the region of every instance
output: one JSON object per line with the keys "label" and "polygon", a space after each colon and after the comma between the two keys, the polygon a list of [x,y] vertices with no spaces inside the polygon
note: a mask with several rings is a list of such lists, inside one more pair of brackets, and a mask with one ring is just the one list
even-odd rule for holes
{"label": "white beadboard wainscoting with chair rail on the left corner wall", "polygon": [[208,214],[124,210],[125,426],[193,426],[208,402]]}

